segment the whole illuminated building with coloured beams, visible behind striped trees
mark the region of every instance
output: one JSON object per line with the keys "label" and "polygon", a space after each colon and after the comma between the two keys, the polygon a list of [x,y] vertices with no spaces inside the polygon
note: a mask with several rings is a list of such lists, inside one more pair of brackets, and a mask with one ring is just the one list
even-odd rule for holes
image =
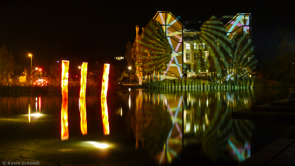
{"label": "whole illuminated building with coloured beams, visible behind striped trees", "polygon": [[[201,76],[207,76],[208,74],[210,75],[206,67],[201,67],[198,71],[196,71],[196,61],[199,58],[202,58],[197,48],[204,45],[197,45],[194,40],[200,37],[200,27],[203,22],[185,22],[183,25],[176,17],[173,16],[173,14],[171,14],[171,12],[162,11],[158,11],[153,19],[160,22],[169,40],[169,43],[173,48],[171,60],[168,64],[166,72],[159,74],[154,73],[154,78],[158,79],[158,77],[160,77],[161,79],[176,79],[183,78],[183,76],[195,77],[196,72]],[[231,38],[234,33],[241,31],[247,32],[251,38],[252,19],[250,13],[239,13],[235,16],[223,16],[219,20],[224,22],[226,19],[230,19],[230,21],[224,25],[224,27],[227,29],[227,35],[229,38]],[[190,27],[190,23],[195,26]],[[139,35],[138,26],[136,26],[136,34],[137,36]],[[205,51],[204,56],[210,56],[209,52]],[[138,77],[142,78],[140,69],[137,69],[137,73]],[[214,74],[214,71],[212,74]],[[139,82],[141,83],[141,80]]]}

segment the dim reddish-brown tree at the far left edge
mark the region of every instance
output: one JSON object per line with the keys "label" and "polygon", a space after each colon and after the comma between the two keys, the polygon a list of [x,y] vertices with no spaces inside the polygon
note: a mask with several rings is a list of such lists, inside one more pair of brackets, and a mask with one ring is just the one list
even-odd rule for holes
{"label": "dim reddish-brown tree at the far left edge", "polygon": [[12,51],[7,51],[6,46],[0,48],[0,79],[7,80],[14,75],[12,65],[15,61],[12,56]]}

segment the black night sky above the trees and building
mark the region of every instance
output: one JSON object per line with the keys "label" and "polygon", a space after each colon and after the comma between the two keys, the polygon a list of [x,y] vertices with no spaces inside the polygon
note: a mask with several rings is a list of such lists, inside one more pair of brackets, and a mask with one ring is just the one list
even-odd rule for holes
{"label": "black night sky above the trees and building", "polygon": [[294,6],[284,1],[1,1],[0,46],[12,50],[16,65],[29,67],[27,53],[32,53],[32,66],[50,71],[53,59],[76,57],[91,64],[124,56],[135,25],[145,26],[157,11],[181,16],[181,22],[250,12],[259,56],[279,25],[294,34]]}

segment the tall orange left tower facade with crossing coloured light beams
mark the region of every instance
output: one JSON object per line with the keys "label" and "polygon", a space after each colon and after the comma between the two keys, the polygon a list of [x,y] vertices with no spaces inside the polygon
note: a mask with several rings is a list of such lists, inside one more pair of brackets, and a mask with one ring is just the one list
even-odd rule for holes
{"label": "tall orange left tower facade with crossing coloured light beams", "polygon": [[167,78],[182,78],[183,25],[173,16],[173,14],[171,14],[171,12],[158,11],[153,19],[162,24],[163,30],[173,48],[172,57],[166,70],[167,73],[164,73],[160,77],[165,79],[165,76],[167,75]]}

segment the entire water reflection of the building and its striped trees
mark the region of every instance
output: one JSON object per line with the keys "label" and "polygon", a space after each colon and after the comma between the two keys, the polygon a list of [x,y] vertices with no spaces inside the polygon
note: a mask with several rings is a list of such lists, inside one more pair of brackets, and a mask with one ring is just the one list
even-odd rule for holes
{"label": "entire water reflection of the building and its striped trees", "polygon": [[138,91],[126,123],[135,135],[136,147],[141,143],[159,164],[176,160],[183,146],[192,144],[199,144],[212,162],[241,162],[250,157],[253,124],[231,119],[231,112],[250,108],[253,90]]}

